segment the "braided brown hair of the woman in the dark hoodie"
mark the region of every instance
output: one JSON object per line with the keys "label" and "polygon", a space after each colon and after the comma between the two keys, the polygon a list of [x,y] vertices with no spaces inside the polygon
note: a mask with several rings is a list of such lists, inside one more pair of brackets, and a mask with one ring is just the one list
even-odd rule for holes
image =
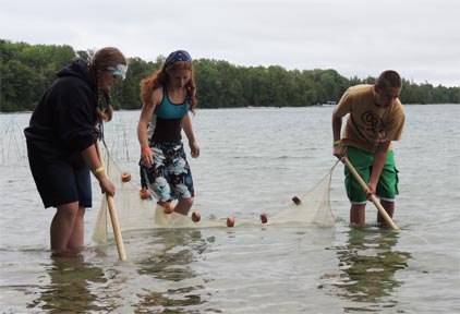
{"label": "braided brown hair of the woman in the dark hoodie", "polygon": [[[100,73],[106,71],[109,67],[116,67],[117,64],[126,65],[126,59],[123,53],[114,47],[106,47],[96,51],[93,60],[89,64],[89,71],[96,78],[97,86],[97,107],[96,112],[104,121],[110,121],[112,119],[113,107],[111,105],[111,97],[109,90],[102,90],[100,88]],[[107,108],[104,108],[101,94],[107,99]]]}

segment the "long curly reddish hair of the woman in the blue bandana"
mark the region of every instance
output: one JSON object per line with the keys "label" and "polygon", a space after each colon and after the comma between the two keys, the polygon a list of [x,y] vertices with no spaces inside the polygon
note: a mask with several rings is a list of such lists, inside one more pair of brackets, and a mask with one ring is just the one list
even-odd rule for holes
{"label": "long curly reddish hair of the woman in the blue bandana", "polygon": [[192,72],[189,82],[185,85],[186,89],[186,101],[190,104],[190,111],[195,113],[196,105],[198,100],[196,99],[196,86],[194,71],[192,62],[189,61],[177,61],[174,63],[162,65],[160,70],[155,72],[153,75],[141,81],[141,100],[143,104],[149,104],[152,93],[154,89],[166,86],[169,75],[175,70],[190,70]]}

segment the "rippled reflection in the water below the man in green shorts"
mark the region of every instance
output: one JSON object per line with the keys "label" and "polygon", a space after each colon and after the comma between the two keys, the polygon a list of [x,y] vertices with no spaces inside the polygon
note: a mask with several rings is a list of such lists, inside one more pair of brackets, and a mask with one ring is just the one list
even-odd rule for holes
{"label": "rippled reflection in the water below the man in green shorts", "polygon": [[391,292],[401,285],[395,273],[405,268],[411,257],[409,253],[392,250],[399,233],[380,228],[352,228],[348,233],[348,243],[336,247],[341,274],[334,278],[331,285],[341,290],[334,294],[353,302],[370,303],[366,310],[394,307],[397,302],[391,300]]}

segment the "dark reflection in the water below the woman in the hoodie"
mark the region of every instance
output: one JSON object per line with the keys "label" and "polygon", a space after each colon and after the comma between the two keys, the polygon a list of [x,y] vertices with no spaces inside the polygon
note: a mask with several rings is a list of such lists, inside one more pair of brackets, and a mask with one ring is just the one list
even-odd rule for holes
{"label": "dark reflection in the water below the woman in the hoodie", "polygon": [[50,283],[41,287],[40,297],[28,304],[28,309],[46,310],[47,313],[88,313],[107,310],[97,303],[92,293],[92,282],[105,282],[102,270],[83,261],[82,255],[73,258],[53,257],[47,269]]}

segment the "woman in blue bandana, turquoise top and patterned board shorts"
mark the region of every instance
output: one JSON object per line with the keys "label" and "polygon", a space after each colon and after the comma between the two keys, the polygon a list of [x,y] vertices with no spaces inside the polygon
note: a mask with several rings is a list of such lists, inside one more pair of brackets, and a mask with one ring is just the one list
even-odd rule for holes
{"label": "woman in blue bandana, turquoise top and patterned board shorts", "polygon": [[195,81],[189,52],[171,52],[159,71],[141,82],[143,107],[137,125],[141,183],[161,206],[178,200],[174,212],[187,215],[193,205],[192,172],[183,148],[184,130],[193,158],[198,143],[189,111],[195,112]]}

